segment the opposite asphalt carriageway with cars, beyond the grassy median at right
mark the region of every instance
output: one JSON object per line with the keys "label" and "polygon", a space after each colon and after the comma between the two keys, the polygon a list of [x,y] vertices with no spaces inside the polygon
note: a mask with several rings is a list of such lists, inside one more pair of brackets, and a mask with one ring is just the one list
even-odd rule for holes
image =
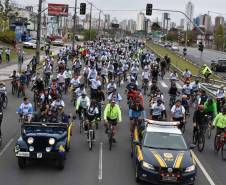
{"label": "opposite asphalt carriageway with cars, beyond the grassy median at right", "polygon": [[[183,48],[184,47],[179,47],[180,51],[179,53],[183,55]],[[221,51],[214,51],[210,49],[205,49],[202,53],[198,50],[198,48],[193,48],[193,47],[187,47],[187,59],[191,60],[195,64],[202,66],[203,64],[207,64],[208,66],[211,65],[212,60],[217,60],[217,59],[226,59],[226,52],[221,52]],[[217,74],[226,77],[225,72],[217,72]]]}

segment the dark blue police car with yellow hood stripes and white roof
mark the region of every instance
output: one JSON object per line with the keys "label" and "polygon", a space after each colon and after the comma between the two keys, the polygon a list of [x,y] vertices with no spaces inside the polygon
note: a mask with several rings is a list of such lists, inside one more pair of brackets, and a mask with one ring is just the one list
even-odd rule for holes
{"label": "dark blue police car with yellow hood stripes and white roof", "polygon": [[142,136],[134,131],[136,181],[194,184],[196,164],[177,122],[146,120]]}

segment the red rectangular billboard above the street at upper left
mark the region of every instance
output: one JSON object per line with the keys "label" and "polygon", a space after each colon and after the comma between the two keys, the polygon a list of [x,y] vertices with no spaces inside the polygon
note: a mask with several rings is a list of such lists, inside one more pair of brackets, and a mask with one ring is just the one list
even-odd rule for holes
{"label": "red rectangular billboard above the street at upper left", "polygon": [[48,4],[49,16],[68,16],[68,5],[66,4]]}

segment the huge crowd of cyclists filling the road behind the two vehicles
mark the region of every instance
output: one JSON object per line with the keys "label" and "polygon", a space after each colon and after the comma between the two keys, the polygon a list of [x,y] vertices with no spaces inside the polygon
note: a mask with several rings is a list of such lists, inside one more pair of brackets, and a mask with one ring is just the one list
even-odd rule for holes
{"label": "huge crowd of cyclists filling the road behind the two vehicles", "polygon": [[[57,55],[50,51],[39,71],[36,66],[34,70],[33,63],[21,74],[13,71],[11,75],[12,94],[24,97],[17,110],[22,121],[66,122],[65,99],[70,97],[72,116],[81,119],[84,115],[87,123],[104,122],[106,133],[110,123],[114,142],[118,123],[125,117],[130,120],[131,136],[135,126],[143,128],[145,118],[180,122],[179,128],[184,132],[191,107],[195,109],[194,134],[214,126],[216,136],[224,133],[224,86],[212,98],[186,69],[181,77],[184,85],[178,88],[179,77],[176,71],[170,71],[170,58],[157,57],[136,39],[100,39],[85,42],[74,50],[66,46]],[[208,74],[203,75],[209,77],[210,71],[205,71]],[[169,101],[160,87],[163,79],[170,83]],[[32,101],[26,96],[26,88],[33,92]],[[122,111],[123,99],[127,99],[128,113]],[[87,125],[84,130],[87,131]]]}

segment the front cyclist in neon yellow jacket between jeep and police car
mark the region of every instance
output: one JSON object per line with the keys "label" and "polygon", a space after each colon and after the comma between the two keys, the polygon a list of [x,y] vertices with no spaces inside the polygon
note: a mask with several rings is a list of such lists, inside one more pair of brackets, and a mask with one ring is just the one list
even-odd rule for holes
{"label": "front cyclist in neon yellow jacket between jeep and police car", "polygon": [[109,122],[112,125],[112,131],[113,131],[113,142],[116,142],[114,136],[116,134],[116,127],[117,124],[122,121],[122,114],[121,109],[119,105],[116,104],[116,101],[114,99],[111,100],[110,103],[108,103],[104,109],[104,125],[105,125],[105,132],[108,133],[109,129]]}

